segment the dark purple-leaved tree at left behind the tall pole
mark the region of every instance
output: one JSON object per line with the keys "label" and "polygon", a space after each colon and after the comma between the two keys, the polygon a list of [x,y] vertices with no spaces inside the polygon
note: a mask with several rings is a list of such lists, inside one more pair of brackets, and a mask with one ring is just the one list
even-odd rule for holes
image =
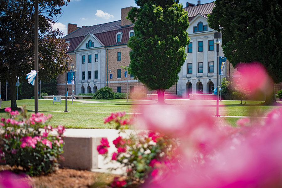
{"label": "dark purple-leaved tree at left behind the tall pole", "polygon": [[[54,18],[70,0],[39,1],[39,80],[65,72],[70,62],[62,33],[51,30]],[[11,87],[11,107],[17,109],[16,82],[34,69],[34,0],[0,0],[0,78]]]}

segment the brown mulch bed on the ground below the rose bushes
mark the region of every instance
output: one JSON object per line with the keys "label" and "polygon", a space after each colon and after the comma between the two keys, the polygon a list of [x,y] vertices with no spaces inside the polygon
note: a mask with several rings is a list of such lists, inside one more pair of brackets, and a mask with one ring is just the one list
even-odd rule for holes
{"label": "brown mulch bed on the ground below the rose bushes", "polygon": [[[0,165],[0,171],[9,170],[15,173],[21,173],[20,169],[10,167],[9,165]],[[59,169],[48,175],[30,177],[33,188],[104,188],[108,187],[116,175],[91,172],[87,170]]]}

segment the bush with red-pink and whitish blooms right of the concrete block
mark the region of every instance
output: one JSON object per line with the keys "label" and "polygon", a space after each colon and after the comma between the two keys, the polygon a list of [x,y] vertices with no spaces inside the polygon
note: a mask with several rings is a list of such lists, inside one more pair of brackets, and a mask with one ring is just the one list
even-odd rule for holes
{"label": "bush with red-pink and whitish blooms right of the concrete block", "polygon": [[[125,112],[112,113],[104,119],[105,123],[116,124],[119,134],[125,133],[124,129],[132,124],[131,119],[124,119]],[[117,152],[112,153],[112,160],[117,161],[126,168],[126,179],[114,178],[111,187],[125,187],[132,184],[144,183],[149,176],[160,175],[165,177],[167,170],[172,170],[177,160],[172,157],[177,150],[175,139],[157,132],[131,133],[128,137],[118,136],[112,142]],[[107,157],[109,142],[107,138],[101,139],[97,146],[99,154]],[[164,170],[165,167],[165,170]]]}

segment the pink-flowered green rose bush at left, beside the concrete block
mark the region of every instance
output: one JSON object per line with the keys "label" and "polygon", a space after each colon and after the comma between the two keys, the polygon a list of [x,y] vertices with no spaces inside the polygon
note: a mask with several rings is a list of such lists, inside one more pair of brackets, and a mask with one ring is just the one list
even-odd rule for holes
{"label": "pink-flowered green rose bush at left, beside the concrete block", "polygon": [[21,117],[18,111],[5,108],[9,118],[1,118],[1,160],[10,166],[21,166],[29,175],[42,175],[55,171],[58,160],[63,153],[62,140],[65,128],[58,126],[58,135],[51,135],[53,128],[48,125],[40,131],[40,126],[47,125],[52,116],[43,113],[26,115],[21,108]]}

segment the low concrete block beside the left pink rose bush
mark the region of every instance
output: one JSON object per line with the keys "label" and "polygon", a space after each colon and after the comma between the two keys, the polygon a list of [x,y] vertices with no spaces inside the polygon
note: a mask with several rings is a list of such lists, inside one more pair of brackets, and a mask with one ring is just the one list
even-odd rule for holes
{"label": "low concrete block beside the left pink rose bush", "polygon": [[62,167],[77,170],[93,170],[98,168],[97,145],[101,138],[93,137],[64,137],[64,161]]}

